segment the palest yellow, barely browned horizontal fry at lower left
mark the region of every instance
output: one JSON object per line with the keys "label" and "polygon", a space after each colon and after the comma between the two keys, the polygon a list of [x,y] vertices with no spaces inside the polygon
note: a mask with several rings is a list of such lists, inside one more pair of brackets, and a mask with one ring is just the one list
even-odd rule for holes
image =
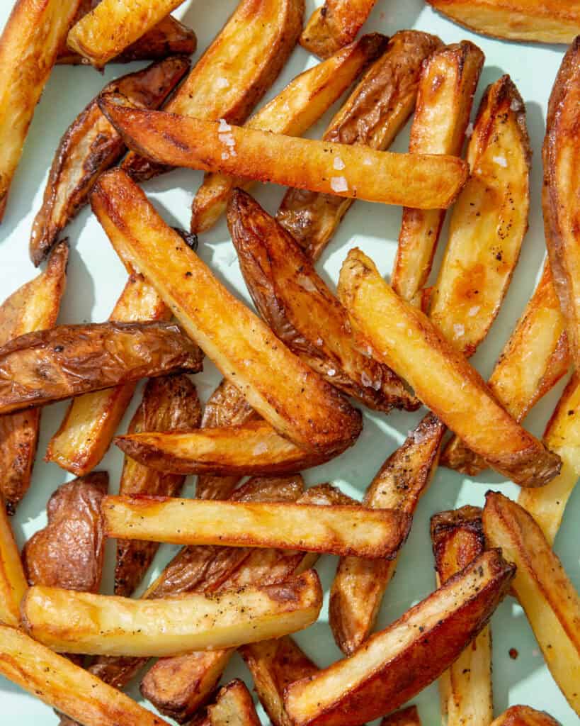
{"label": "palest yellow, barely browned horizontal fry at lower left", "polygon": [[175,656],[302,630],[318,618],[321,606],[320,580],[308,570],[279,584],[162,600],[36,585],[22,600],[22,621],[35,640],[57,651]]}

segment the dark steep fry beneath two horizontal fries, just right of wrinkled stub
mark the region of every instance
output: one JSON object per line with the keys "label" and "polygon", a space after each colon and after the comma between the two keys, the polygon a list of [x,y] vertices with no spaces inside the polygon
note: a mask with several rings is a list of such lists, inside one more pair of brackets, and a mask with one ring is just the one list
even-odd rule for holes
{"label": "dark steep fry beneath two horizontal fries, just right of wrinkled stub", "polygon": [[[128,431],[183,431],[197,428],[201,420],[202,410],[191,380],[186,375],[162,376],[147,383]],[[155,471],[125,458],[119,493],[175,497],[181,493],[184,482],[185,476]],[[156,542],[117,540],[115,595],[133,594],[158,547]]]}

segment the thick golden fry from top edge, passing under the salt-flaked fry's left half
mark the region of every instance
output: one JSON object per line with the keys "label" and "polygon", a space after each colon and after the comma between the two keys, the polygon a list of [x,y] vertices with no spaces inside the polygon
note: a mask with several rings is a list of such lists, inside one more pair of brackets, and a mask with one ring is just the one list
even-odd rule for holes
{"label": "thick golden fry from top edge, passing under the salt-flaked fry's left half", "polygon": [[[240,0],[167,111],[244,123],[276,81],[302,30],[304,0]],[[123,168],[143,181],[171,167],[130,153]]]}

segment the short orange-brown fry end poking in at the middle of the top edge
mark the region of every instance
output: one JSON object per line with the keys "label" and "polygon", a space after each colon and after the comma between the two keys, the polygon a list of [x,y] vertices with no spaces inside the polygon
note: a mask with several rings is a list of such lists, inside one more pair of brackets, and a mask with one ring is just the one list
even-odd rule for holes
{"label": "short orange-brown fry end poking in at the middle of the top edge", "polygon": [[320,58],[328,58],[353,41],[376,0],[326,0],[302,30],[300,45]]}

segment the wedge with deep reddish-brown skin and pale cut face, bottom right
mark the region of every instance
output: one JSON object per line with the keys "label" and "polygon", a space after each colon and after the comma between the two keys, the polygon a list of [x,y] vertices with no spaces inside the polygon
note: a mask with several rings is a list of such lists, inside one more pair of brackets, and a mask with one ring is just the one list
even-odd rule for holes
{"label": "wedge with deep reddish-brown skin and pale cut face, bottom right", "polygon": [[413,698],[485,627],[514,571],[498,550],[485,552],[352,656],[289,685],[291,722],[355,726]]}

